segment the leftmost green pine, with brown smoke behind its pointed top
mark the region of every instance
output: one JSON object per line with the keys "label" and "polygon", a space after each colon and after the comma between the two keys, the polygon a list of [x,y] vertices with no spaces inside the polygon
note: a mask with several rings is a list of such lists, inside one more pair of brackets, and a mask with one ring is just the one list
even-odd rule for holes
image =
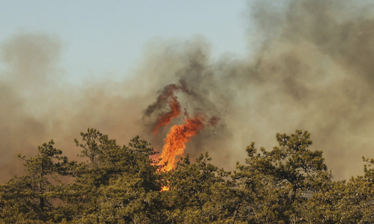
{"label": "leftmost green pine, with brown smoke behind its pointed top", "polygon": [[0,215],[3,221],[13,223],[20,220],[58,219],[54,202],[65,194],[64,184],[59,177],[67,175],[69,167],[75,162],[69,163],[67,157],[61,156],[62,151],[54,148],[53,144],[55,142],[50,140],[39,146],[39,153],[30,159],[18,155],[25,162],[27,174],[16,176],[2,186],[4,205]]}

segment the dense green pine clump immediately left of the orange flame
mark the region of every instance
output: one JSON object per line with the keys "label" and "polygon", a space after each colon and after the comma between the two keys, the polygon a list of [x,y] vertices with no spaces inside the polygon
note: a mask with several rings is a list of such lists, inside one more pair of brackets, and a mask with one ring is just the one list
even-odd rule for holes
{"label": "dense green pine clump immediately left of the orange flame", "polygon": [[136,136],[129,146],[118,146],[96,129],[81,133],[83,158],[70,184],[70,220],[79,223],[152,223],[154,201],[160,191],[158,168],[150,159],[154,149]]}

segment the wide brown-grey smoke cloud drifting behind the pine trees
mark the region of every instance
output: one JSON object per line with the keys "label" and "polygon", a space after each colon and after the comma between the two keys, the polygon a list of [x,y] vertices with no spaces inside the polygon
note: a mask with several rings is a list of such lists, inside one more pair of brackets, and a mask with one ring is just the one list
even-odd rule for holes
{"label": "wide brown-grey smoke cloud drifting behind the pine trees", "polygon": [[[148,43],[132,80],[64,80],[63,43],[43,33],[15,34],[1,43],[0,181],[22,173],[18,152],[32,156],[55,139],[70,159],[73,139],[88,127],[120,144],[139,134],[161,149],[168,128],[152,128],[166,85],[181,109],[220,119],[187,143],[191,156],[209,151],[219,167],[243,162],[245,146],[271,148],[275,133],[312,133],[335,180],[362,173],[374,157],[374,12],[370,1],[252,1],[248,57],[213,60],[203,37]],[[230,35],[230,34],[227,34]],[[129,43],[131,44],[131,43]],[[188,93],[188,94],[187,94]],[[149,109],[149,107],[148,107]],[[182,124],[173,118],[171,124]]]}

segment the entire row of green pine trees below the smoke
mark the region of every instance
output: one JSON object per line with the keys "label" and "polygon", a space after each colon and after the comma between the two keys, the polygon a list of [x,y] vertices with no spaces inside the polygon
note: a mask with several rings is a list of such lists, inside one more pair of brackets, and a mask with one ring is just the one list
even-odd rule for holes
{"label": "entire row of green pine trees below the smoke", "polygon": [[334,181],[308,131],[277,133],[272,150],[252,142],[233,171],[205,152],[162,172],[139,136],[119,146],[93,128],[80,135],[84,162],[53,140],[18,155],[26,174],[0,186],[0,223],[374,223],[374,160],[363,157],[364,175]]}

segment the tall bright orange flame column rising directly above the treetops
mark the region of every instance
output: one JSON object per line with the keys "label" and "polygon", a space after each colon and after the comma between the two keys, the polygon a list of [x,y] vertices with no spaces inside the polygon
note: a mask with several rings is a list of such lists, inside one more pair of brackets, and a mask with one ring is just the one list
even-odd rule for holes
{"label": "tall bright orange flame column rising directly above the treetops", "polygon": [[186,149],[185,143],[196,136],[201,128],[204,127],[203,118],[197,115],[194,118],[187,118],[183,125],[173,125],[164,139],[165,145],[162,147],[159,165],[164,165],[160,171],[170,171],[175,166],[175,157],[182,155]]}

